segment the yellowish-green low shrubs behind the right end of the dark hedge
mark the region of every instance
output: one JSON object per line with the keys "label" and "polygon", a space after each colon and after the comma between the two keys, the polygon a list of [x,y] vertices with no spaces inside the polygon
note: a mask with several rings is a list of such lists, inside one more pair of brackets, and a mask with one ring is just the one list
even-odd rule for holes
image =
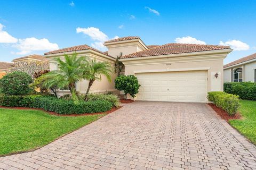
{"label": "yellowish-green low shrubs behind the right end of the dark hedge", "polygon": [[107,101],[110,101],[110,103],[114,107],[119,107],[121,104],[119,101],[119,97],[117,95],[113,95],[113,94],[88,94],[87,100],[88,101],[107,100]]}

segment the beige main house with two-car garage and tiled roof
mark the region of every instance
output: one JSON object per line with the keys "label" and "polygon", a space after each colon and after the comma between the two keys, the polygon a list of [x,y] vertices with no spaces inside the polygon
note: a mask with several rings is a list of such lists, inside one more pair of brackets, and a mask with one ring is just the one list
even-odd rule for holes
{"label": "beige main house with two-car garage and tiled roof", "polygon": [[[229,46],[165,44],[147,46],[139,37],[123,37],[106,41],[108,52],[100,52],[87,45],[63,48],[45,53],[50,70],[58,69],[52,60],[64,54],[88,56],[114,66],[122,54],[126,75],[135,75],[141,88],[135,100],[207,102],[208,91],[223,90],[223,59],[232,50]],[[91,87],[90,92],[115,92],[114,79],[106,78]],[[88,81],[77,83],[79,93],[85,93]],[[61,92],[64,94],[65,92]]]}

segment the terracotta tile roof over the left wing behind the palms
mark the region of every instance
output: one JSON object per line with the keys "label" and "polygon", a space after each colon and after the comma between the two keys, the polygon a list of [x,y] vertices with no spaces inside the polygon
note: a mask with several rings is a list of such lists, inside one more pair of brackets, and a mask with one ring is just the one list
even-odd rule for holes
{"label": "terracotta tile roof over the left wing behind the palms", "polygon": [[86,44],[85,45],[79,45],[79,46],[74,46],[74,47],[68,47],[68,48],[62,48],[62,49],[54,50],[54,51],[51,51],[51,52],[44,53],[44,55],[57,54],[57,53],[67,53],[67,52],[77,52],[77,51],[86,50],[86,49],[91,49],[91,50],[94,50],[95,52],[98,52],[98,53],[101,53],[101,54],[109,56],[108,54],[103,53],[100,50],[92,48],[92,47],[90,47],[90,46],[88,46]]}

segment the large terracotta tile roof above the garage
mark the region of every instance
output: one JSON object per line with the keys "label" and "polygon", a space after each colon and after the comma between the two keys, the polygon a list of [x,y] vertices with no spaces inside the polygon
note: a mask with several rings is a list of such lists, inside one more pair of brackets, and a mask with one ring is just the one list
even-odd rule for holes
{"label": "large terracotta tile roof above the garage", "polygon": [[147,57],[167,54],[193,53],[210,50],[230,49],[229,46],[171,43],[122,56],[122,58]]}

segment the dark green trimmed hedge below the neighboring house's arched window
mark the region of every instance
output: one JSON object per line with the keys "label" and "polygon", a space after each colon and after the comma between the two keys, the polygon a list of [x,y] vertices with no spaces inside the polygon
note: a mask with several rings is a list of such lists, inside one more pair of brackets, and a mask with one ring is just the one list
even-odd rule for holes
{"label": "dark green trimmed hedge below the neighboring house's arched window", "polygon": [[256,100],[255,82],[224,83],[224,91],[228,94],[238,95],[241,99]]}

